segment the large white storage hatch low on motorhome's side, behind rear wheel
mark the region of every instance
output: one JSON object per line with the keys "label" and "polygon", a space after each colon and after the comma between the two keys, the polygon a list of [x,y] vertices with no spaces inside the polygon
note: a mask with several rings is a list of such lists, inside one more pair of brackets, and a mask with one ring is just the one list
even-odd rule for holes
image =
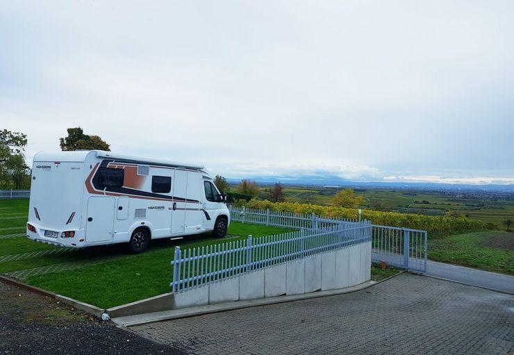
{"label": "large white storage hatch low on motorhome's side, behind rear wheel", "polygon": [[106,242],[113,238],[114,197],[90,197],[85,224],[86,242]]}

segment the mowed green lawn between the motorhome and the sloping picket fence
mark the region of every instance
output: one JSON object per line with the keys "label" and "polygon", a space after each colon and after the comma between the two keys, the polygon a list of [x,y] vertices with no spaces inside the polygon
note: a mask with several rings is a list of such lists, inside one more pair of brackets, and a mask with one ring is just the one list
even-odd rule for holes
{"label": "mowed green lawn between the motorhome and the sloping picket fence", "polygon": [[[26,279],[26,282],[89,304],[110,308],[170,292],[169,283],[173,276],[170,262],[174,258],[176,245],[187,250],[193,247],[208,247],[222,242],[244,240],[249,234],[257,238],[290,231],[292,230],[233,222],[229,233],[242,235],[241,237],[214,239],[211,238],[210,233],[206,233],[186,237],[183,240],[155,240],[151,249],[139,255],[120,254],[120,257],[114,261],[67,272],[31,276]],[[104,253],[109,250],[110,247],[103,248]],[[69,255],[60,257],[69,258]]]}

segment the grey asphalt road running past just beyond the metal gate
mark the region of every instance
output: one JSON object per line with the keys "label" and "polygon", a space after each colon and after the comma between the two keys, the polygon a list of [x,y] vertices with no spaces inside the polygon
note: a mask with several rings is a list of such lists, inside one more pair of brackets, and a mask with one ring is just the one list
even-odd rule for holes
{"label": "grey asphalt road running past just beyond the metal gate", "polygon": [[[395,254],[381,254],[373,252],[372,258],[373,260],[383,260],[393,265],[395,263],[401,264],[404,257]],[[411,259],[411,265],[422,267],[423,263],[424,261],[413,261],[413,259]],[[485,288],[492,288],[493,290],[509,292],[514,295],[514,276],[482,271],[473,269],[472,267],[438,263],[437,261],[431,260],[426,261],[426,272],[424,272],[424,274],[463,283],[470,283],[471,285]]]}

